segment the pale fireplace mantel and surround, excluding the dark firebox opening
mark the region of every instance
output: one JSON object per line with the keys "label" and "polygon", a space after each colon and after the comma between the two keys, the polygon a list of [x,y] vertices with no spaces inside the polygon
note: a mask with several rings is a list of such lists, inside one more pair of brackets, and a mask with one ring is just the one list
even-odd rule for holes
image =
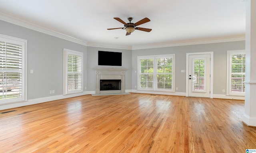
{"label": "pale fireplace mantel and surround, excluding the dark firebox opening", "polygon": [[[96,73],[96,94],[109,93],[124,93],[124,75],[126,68],[108,68],[108,67],[94,67]],[[100,80],[119,79],[121,80],[121,90],[100,90]]]}

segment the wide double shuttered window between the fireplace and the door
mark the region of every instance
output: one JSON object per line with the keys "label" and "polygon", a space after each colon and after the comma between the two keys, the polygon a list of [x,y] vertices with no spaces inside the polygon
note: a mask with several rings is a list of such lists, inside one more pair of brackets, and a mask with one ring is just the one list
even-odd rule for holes
{"label": "wide double shuttered window between the fireplace and the door", "polygon": [[175,55],[138,57],[138,90],[174,91]]}

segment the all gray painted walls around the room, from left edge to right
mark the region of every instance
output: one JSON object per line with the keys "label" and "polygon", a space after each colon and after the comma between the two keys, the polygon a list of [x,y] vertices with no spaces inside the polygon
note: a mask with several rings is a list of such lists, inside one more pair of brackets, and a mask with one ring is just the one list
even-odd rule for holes
{"label": "all gray painted walls around the room, from left edge to right", "polygon": [[[176,87],[177,92],[186,90],[186,53],[214,52],[214,91],[213,94],[225,94],[226,89],[226,55],[228,50],[245,49],[245,41],[209,43],[201,45],[184,45],[152,49],[126,50],[102,47],[86,47],[58,37],[10,24],[0,20],[0,33],[28,40],[28,100],[54,95],[62,95],[63,82],[63,48],[84,53],[84,87],[95,91],[96,80],[94,67],[98,65],[98,51],[122,52],[122,66],[127,68],[125,75],[126,90],[136,90],[137,57],[143,55],[176,54]],[[113,66],[114,67],[114,66]],[[118,66],[116,66],[118,67]],[[30,74],[34,70],[34,74]],[[55,94],[50,94],[55,90]]]}

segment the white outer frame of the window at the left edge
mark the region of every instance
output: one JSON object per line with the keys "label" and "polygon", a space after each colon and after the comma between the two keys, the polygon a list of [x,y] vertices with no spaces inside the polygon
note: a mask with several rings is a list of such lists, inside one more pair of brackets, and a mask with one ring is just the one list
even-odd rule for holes
{"label": "white outer frame of the window at the left edge", "polygon": [[22,88],[21,94],[19,98],[10,98],[10,99],[3,99],[0,101],[1,104],[10,104],[15,102],[23,102],[27,100],[27,40],[20,39],[16,37],[11,37],[8,35],[0,34],[0,41],[5,41],[8,43],[14,43],[17,45],[22,46]]}

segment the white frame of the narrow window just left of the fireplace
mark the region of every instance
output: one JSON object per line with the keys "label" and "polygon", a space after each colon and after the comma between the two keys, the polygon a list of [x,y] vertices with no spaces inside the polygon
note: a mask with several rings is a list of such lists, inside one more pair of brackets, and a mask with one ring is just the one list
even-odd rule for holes
{"label": "white frame of the narrow window just left of the fireplace", "polygon": [[[72,91],[68,91],[68,54],[71,54],[71,55],[77,55],[77,56],[81,56],[82,57],[82,84],[81,84],[81,89],[80,90],[72,90]],[[84,65],[84,54],[82,52],[78,52],[78,51],[73,51],[73,50],[70,50],[70,49],[63,49],[63,95],[66,95],[66,94],[76,94],[76,93],[80,93],[80,92],[83,92],[83,72],[84,72],[84,69],[83,69],[83,65]]]}

